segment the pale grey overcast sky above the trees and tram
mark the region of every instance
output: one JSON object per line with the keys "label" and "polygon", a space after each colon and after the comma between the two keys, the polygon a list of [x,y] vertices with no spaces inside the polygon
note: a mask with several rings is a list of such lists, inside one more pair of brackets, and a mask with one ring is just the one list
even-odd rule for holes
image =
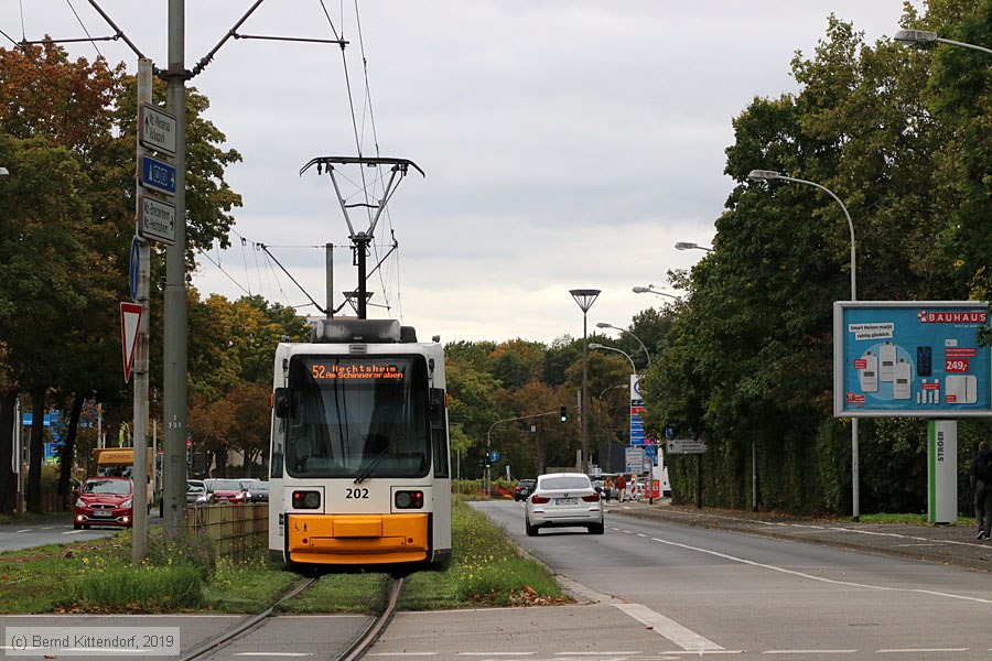
{"label": "pale grey overcast sky above the trees and tram", "polygon": [[[96,1],[165,68],[168,0]],[[187,1],[186,68],[251,4]],[[377,245],[393,231],[399,249],[373,278],[368,316],[400,318],[422,339],[550,343],[582,335],[570,289],[602,290],[591,332],[596,322],[626,327],[665,304],[632,288],[665,289],[669,269],[703,257],[673,245],[713,238],[733,187],[723,174],[732,119],[756,96],[796,90],[789,63],[796,51],[812,55],[828,14],[874,43],[898,30],[903,3],[358,0],[357,21],[355,6],[265,0],[239,29],[315,39],[336,31],[349,42],[344,58],[331,44],[230,40],[188,83],[244,156],[226,173],[244,197],[235,247],[209,253],[220,268],[201,259],[194,285],[204,295],[308,303],[261,243],[323,305],[321,247],[348,246],[348,230],[330,178],[299,171],[314,156],[357,155],[360,142],[363,155],[409,159],[427,173],[405,177],[376,228]],[[0,30],[15,40],[78,39],[84,26],[112,33],[87,0],[0,2]],[[98,47],[137,66],[122,41],[65,47],[90,59]],[[348,182],[362,173],[339,172],[358,202]],[[355,229],[366,229],[363,209],[352,213]],[[347,248],[334,250],[334,262],[339,305],[357,272]]]}

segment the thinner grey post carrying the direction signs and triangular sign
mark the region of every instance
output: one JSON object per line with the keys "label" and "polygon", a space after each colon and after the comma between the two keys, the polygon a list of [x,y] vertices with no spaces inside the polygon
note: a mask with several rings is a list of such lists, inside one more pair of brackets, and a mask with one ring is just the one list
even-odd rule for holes
{"label": "thinner grey post carrying the direction signs and triangular sign", "polygon": [[[151,95],[151,59],[141,58],[138,61],[138,108],[142,104],[150,104]],[[140,132],[140,128],[139,128]],[[137,164],[141,162],[144,149],[140,141],[137,141]],[[134,199],[136,204],[141,204],[138,189],[141,187],[137,181],[134,182]],[[136,214],[137,217],[137,214]],[[137,227],[134,228],[137,232]],[[148,554],[148,354],[150,343],[148,337],[149,327],[149,291],[150,291],[150,273],[151,250],[147,239],[138,239],[138,297],[137,303],[141,305],[141,317],[138,324],[138,346],[134,355],[134,464],[131,467],[131,481],[134,492],[131,495],[131,562],[136,565],[140,564]]]}

